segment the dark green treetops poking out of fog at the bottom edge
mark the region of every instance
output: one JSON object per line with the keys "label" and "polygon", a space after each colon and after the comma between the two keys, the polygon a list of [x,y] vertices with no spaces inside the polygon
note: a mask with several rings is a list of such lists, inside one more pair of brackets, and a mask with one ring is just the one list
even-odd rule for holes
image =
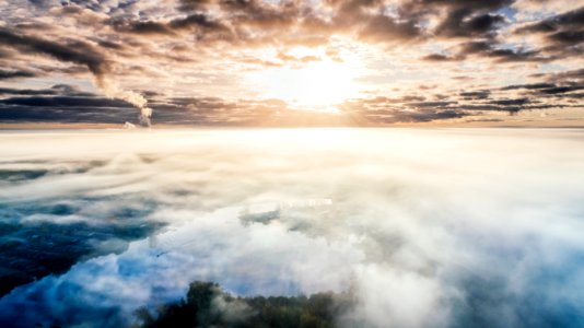
{"label": "dark green treetops poking out of fog at the bottom edge", "polygon": [[350,311],[350,293],[234,297],[217,283],[196,281],[186,300],[162,307],[156,318],[141,308],[142,327],[330,328]]}

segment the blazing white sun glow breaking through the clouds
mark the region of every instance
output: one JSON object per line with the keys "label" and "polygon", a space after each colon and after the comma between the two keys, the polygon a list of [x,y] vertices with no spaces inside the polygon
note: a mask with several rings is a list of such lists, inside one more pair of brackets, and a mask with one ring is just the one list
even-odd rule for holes
{"label": "blazing white sun glow breaking through the clouds", "polygon": [[279,67],[250,75],[262,97],[279,98],[301,109],[335,112],[359,94],[355,65],[320,60],[301,67]]}

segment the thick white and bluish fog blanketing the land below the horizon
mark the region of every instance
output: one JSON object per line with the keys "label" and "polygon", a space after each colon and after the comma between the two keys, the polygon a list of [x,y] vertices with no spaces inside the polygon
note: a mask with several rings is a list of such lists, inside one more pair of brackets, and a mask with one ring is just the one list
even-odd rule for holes
{"label": "thick white and bluish fog blanketing the land below the horizon", "polygon": [[0,323],[130,326],[208,280],[350,290],[340,327],[584,324],[584,130],[4,131],[0,152],[3,224],[103,232]]}

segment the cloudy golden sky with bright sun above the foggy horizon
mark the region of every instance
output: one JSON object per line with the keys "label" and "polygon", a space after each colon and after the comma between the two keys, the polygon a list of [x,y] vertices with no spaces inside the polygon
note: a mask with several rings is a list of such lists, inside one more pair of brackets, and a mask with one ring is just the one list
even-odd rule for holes
{"label": "cloudy golden sky with bright sun above the foggy horizon", "polygon": [[0,122],[582,126],[583,0],[0,0]]}

